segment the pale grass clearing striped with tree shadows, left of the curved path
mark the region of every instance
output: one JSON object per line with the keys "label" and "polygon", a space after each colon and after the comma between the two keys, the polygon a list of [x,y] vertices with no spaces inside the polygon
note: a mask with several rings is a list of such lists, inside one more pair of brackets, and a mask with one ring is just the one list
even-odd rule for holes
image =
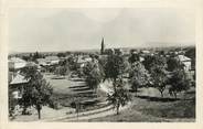
{"label": "pale grass clearing striped with tree shadows, left of the curved path", "polygon": [[[53,87],[53,100],[56,103],[56,105],[60,105],[60,108],[63,107],[72,107],[72,104],[75,101],[75,99],[79,99],[79,101],[85,100],[93,100],[98,99],[99,101],[106,100],[106,96],[104,96],[104,93],[101,90],[97,92],[97,97],[95,98],[93,96],[94,93],[92,93],[92,89],[86,86],[86,83],[81,79],[68,79],[66,76],[65,78],[56,79],[55,75],[53,74],[45,74],[44,78],[51,84]],[[77,89],[77,90],[76,90]],[[78,93],[82,93],[78,96]],[[83,94],[84,93],[84,94]],[[79,98],[77,98],[79,97]],[[87,107],[86,108],[97,108],[94,107]],[[87,109],[88,110],[88,109]]]}

